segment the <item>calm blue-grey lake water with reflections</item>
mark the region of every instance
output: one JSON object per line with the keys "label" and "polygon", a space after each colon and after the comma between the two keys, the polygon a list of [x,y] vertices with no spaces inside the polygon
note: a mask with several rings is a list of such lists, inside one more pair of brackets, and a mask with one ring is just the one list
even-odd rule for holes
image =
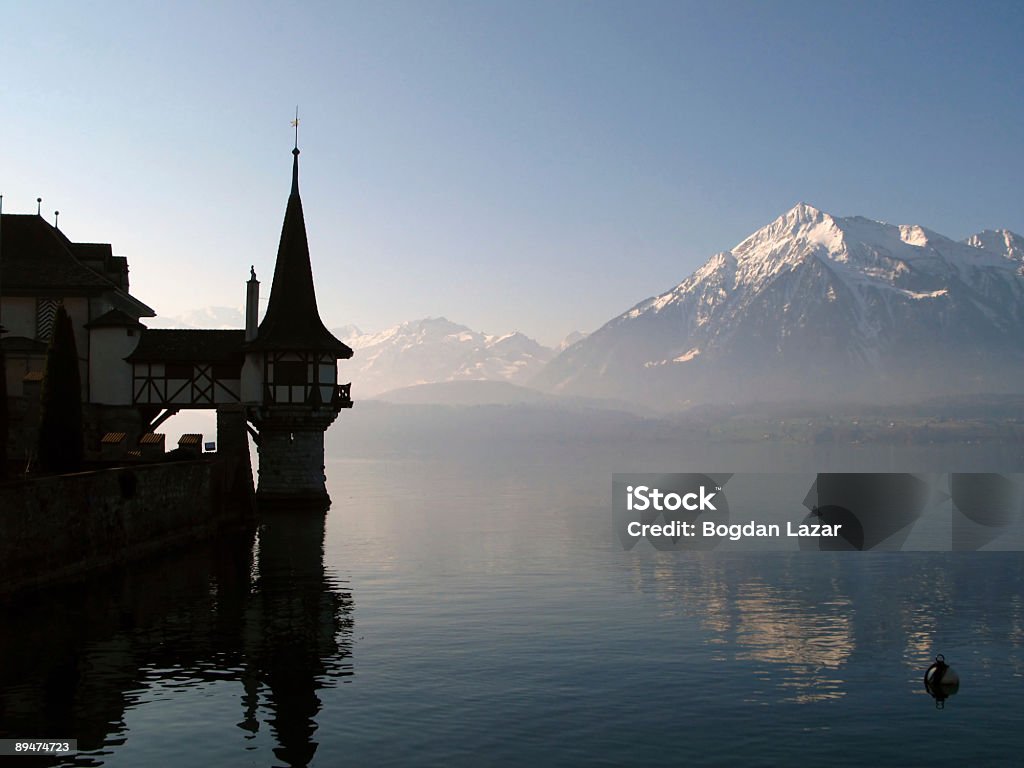
{"label": "calm blue-grey lake water with reflections", "polygon": [[751,451],[332,461],[326,523],[264,516],[8,606],[0,735],[77,737],[49,764],[92,766],[1020,764],[1020,553],[624,552],[609,511],[612,471],[1019,472],[1019,450]]}

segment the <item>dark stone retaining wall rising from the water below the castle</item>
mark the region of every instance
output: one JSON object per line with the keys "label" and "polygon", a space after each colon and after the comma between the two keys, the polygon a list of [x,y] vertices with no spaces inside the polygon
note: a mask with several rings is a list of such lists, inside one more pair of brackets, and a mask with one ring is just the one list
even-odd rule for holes
{"label": "dark stone retaining wall rising from the water below the castle", "polygon": [[0,485],[0,594],[77,577],[241,523],[225,461],[119,467]]}

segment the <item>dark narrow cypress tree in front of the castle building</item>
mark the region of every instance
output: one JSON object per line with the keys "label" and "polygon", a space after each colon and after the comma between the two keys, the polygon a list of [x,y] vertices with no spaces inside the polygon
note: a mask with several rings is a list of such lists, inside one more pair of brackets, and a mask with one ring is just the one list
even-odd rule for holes
{"label": "dark narrow cypress tree in front of the castle building", "polygon": [[82,468],[82,384],[71,317],[61,304],[46,350],[39,411],[39,464],[46,472]]}

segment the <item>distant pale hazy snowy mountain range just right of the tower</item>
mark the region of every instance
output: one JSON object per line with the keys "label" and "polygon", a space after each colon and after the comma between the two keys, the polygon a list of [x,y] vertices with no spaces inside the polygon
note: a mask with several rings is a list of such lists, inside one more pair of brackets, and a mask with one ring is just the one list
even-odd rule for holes
{"label": "distant pale hazy snowy mountain range just right of the tower", "polygon": [[402,323],[343,340],[355,354],[340,365],[338,375],[344,381],[351,379],[352,393],[359,397],[445,381],[522,382],[554,355],[554,350],[521,333],[489,336],[444,317]]}

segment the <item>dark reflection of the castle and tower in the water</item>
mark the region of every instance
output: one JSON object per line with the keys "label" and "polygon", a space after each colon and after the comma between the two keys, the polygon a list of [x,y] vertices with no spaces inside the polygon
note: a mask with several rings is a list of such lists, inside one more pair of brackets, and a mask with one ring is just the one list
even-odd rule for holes
{"label": "dark reflection of the castle and tower in the water", "polygon": [[4,606],[0,737],[73,736],[71,764],[99,765],[127,740],[129,711],[226,684],[239,711],[219,731],[269,729],[279,761],[307,765],[318,692],[353,672],[352,596],[325,569],[324,532],[323,514],[263,513],[251,530]]}

